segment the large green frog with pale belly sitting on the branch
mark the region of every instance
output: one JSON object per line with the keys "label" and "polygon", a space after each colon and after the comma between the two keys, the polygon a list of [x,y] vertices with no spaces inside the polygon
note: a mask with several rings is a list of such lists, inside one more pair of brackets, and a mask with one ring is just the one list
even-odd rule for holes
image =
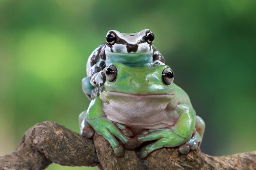
{"label": "large green frog with pale belly sitting on the branch", "polygon": [[[173,83],[169,66],[127,66],[114,62],[105,68],[106,81],[87,112],[79,115],[81,134],[94,130],[108,140],[117,156],[151,141],[140,156],[162,147],[179,146],[182,154],[200,145],[204,121],[195,115],[188,95]],[[121,142],[121,143],[119,143]]]}

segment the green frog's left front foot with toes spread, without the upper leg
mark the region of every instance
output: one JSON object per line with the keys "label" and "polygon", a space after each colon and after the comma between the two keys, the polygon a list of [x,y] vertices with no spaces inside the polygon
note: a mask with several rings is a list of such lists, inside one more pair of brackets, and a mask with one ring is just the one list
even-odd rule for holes
{"label": "green frog's left front foot with toes spread, without the upper leg", "polygon": [[119,144],[117,139],[119,139],[128,150],[132,150],[137,147],[137,140],[128,137],[132,135],[132,132],[122,124],[114,124],[106,117],[92,119],[90,120],[90,124],[100,135],[102,135],[110,143],[111,147],[115,152],[115,155],[118,157],[124,155],[124,148],[122,145]]}

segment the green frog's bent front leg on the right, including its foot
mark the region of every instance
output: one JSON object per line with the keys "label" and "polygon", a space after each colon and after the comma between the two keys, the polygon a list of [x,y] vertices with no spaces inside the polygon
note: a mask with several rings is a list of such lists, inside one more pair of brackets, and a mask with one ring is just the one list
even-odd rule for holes
{"label": "green frog's bent front leg on the right, including its foot", "polygon": [[189,141],[195,128],[195,111],[185,104],[179,104],[176,111],[180,116],[170,128],[149,130],[148,134],[137,136],[137,141],[140,144],[145,141],[157,140],[153,144],[141,148],[140,155],[142,158],[156,149],[180,146],[186,141]]}

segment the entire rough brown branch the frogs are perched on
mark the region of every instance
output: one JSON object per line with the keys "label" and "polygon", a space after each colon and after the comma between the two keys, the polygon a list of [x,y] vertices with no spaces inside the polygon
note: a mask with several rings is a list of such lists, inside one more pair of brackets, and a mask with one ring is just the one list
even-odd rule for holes
{"label": "entire rough brown branch the frogs are perched on", "polygon": [[97,166],[104,170],[256,170],[256,151],[213,157],[199,149],[181,155],[177,148],[155,150],[145,159],[126,150],[116,157],[110,144],[96,134],[81,137],[52,121],[38,123],[25,133],[18,148],[0,157],[0,170],[43,170],[52,162],[63,166]]}

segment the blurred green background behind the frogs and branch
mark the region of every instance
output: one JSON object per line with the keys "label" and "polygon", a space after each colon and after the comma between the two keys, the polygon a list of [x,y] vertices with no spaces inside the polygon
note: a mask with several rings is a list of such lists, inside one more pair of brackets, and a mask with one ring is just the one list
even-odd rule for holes
{"label": "blurred green background behind the frogs and branch", "polygon": [[[255,0],[0,0],[0,156],[40,121],[79,132],[88,56],[110,29],[146,28],[206,122],[202,151],[256,150],[255,9]],[[65,169],[86,168],[47,168]]]}

